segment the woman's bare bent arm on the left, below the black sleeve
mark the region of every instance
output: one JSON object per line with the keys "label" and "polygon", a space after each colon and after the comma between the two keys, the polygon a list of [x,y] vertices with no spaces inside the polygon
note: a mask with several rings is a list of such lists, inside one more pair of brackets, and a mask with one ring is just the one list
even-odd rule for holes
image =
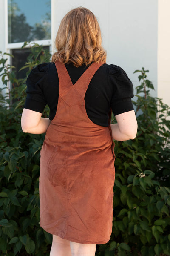
{"label": "woman's bare bent arm on the left, below the black sleeve", "polygon": [[21,117],[21,127],[23,132],[41,134],[45,133],[51,123],[49,118],[42,118],[41,113],[23,109]]}

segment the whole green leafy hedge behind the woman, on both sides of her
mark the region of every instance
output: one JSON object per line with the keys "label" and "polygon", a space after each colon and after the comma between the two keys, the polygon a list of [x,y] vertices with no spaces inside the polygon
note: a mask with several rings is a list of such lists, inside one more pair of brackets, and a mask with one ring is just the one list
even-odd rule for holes
{"label": "whole green leafy hedge behind the woman, on both sides of her", "polygon": [[[25,43],[26,46],[26,43]],[[37,44],[23,68],[28,72],[50,60]],[[20,126],[26,78],[1,53],[0,72],[10,95],[0,94],[0,255],[48,256],[51,235],[39,226],[39,159],[44,135],[24,134]],[[149,95],[153,89],[144,68],[134,103],[136,139],[115,141],[113,233],[96,256],[170,255],[170,108]],[[44,116],[48,116],[45,108]],[[113,118],[113,122],[115,119]],[[163,254],[162,254],[163,253]]]}

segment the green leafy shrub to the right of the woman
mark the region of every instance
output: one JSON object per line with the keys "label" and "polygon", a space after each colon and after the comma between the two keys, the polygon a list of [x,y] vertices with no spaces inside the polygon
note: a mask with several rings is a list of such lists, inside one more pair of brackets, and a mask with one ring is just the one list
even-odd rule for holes
{"label": "green leafy shrub to the right of the woman", "polygon": [[170,108],[149,95],[148,70],[135,72],[138,132],[115,143],[113,233],[99,246],[103,256],[170,255]]}

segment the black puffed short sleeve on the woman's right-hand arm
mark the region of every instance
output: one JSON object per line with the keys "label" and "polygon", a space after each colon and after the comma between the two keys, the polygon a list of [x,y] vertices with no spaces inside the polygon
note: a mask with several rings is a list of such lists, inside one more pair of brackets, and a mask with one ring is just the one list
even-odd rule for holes
{"label": "black puffed short sleeve on the woman's right-hand arm", "polygon": [[109,81],[114,88],[111,99],[111,108],[114,115],[133,110],[133,84],[125,71],[116,65],[109,67]]}

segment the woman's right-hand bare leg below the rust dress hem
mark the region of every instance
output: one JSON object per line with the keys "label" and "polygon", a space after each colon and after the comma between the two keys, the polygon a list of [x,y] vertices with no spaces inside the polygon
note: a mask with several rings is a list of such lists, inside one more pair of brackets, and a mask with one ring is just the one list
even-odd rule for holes
{"label": "woman's right-hand bare leg below the rust dress hem", "polygon": [[70,242],[72,256],[95,256],[96,244]]}

